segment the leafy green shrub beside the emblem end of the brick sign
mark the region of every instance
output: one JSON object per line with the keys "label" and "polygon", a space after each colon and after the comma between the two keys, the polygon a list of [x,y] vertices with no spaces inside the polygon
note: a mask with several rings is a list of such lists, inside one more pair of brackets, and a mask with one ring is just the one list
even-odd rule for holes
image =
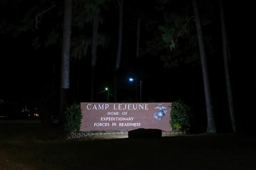
{"label": "leafy green shrub beside the emblem end of the brick sign", "polygon": [[190,107],[180,99],[172,103],[170,124],[172,129],[187,130],[191,125]]}

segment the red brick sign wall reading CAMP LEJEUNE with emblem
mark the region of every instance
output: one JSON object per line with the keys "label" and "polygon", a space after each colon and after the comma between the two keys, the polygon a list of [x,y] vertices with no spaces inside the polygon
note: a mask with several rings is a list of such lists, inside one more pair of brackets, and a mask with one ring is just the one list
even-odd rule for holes
{"label": "red brick sign wall reading CAMP LEJEUNE with emblem", "polygon": [[172,103],[81,103],[81,131],[134,130],[170,131]]}

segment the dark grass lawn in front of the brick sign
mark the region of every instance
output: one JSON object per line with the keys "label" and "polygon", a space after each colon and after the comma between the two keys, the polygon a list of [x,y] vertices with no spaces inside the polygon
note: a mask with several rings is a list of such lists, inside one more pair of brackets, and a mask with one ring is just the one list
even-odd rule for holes
{"label": "dark grass lawn in front of the brick sign", "polygon": [[256,137],[66,140],[56,125],[0,123],[0,170],[256,170]]}

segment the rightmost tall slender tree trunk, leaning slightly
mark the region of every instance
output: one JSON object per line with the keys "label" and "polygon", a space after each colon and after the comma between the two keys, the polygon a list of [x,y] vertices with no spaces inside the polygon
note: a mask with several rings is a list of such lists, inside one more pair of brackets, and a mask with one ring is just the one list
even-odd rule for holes
{"label": "rightmost tall slender tree trunk, leaning slightly", "polygon": [[236,119],[233,107],[233,95],[231,91],[231,82],[230,82],[230,74],[228,67],[228,44],[227,44],[227,31],[225,26],[224,19],[224,6],[222,0],[220,0],[220,14],[221,14],[221,32],[222,32],[222,45],[223,45],[223,58],[224,58],[224,70],[225,70],[225,78],[226,78],[226,88],[227,88],[227,100],[228,100],[228,108],[230,113],[230,119],[232,122],[233,132],[236,133]]}

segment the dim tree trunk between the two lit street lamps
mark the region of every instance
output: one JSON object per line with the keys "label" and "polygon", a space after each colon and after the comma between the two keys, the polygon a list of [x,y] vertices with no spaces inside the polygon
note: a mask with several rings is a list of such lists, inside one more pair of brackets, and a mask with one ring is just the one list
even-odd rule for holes
{"label": "dim tree trunk between the two lit street lamps", "polygon": [[121,51],[122,51],[122,19],[123,19],[123,0],[119,2],[119,31],[118,31],[118,46],[117,46],[117,54],[116,54],[116,71],[115,71],[115,79],[114,79],[114,95],[115,95],[115,102],[118,100],[118,93],[117,93],[117,86],[118,86],[118,75],[119,75],[119,68],[121,62]]}

